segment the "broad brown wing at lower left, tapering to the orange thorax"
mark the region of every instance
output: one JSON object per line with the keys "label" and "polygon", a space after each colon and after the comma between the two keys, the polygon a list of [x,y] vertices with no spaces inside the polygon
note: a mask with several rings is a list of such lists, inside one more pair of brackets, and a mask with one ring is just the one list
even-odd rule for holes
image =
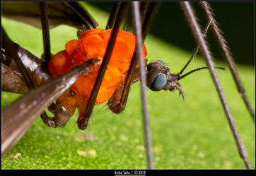
{"label": "broad brown wing at lower left, tapering to the orange thorax", "polygon": [[38,89],[30,90],[28,94],[21,96],[21,98],[2,109],[2,156],[21,139],[37,116],[50,106],[55,99],[61,96],[66,89],[69,89],[81,73],[86,74],[87,68],[93,63],[95,63],[95,60],[89,60],[83,63],[83,65],[76,66],[69,73],[43,84]]}

